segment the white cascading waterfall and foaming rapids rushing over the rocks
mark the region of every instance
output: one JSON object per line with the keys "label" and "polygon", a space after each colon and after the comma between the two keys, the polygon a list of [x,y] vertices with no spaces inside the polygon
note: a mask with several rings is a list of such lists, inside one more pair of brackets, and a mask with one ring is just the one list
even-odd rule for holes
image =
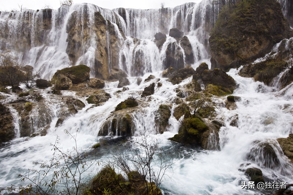
{"label": "white cascading waterfall and foaming rapids rushing over the rocks", "polygon": [[[221,127],[219,132],[219,145],[215,144],[215,136],[210,136],[209,145],[214,151],[188,148],[167,140],[178,132],[180,125],[173,116],[177,98],[176,89],[188,84],[190,78],[176,85],[168,82],[166,78],[161,78],[167,46],[174,44],[181,48],[180,52],[183,56],[185,54],[180,43],[173,37],[167,36],[161,50],[152,39],[156,32],[168,34],[170,28],[177,27],[184,32],[192,45],[195,59],[192,67],[196,68],[202,61],[209,63],[207,38],[219,12],[219,7],[211,4],[210,0],[199,4],[189,3],[175,8],[155,10],[117,8],[112,11],[92,4],[78,4],[71,7],[63,6],[52,11],[1,12],[0,27],[7,31],[0,32],[1,37],[5,37],[0,39],[0,44],[14,50],[24,63],[42,70],[44,78],[50,78],[57,69],[68,65],[85,63],[93,67],[97,37],[91,27],[94,26],[95,11],[99,11],[106,20],[110,21],[107,27],[110,28],[110,25],[114,24],[115,34],[119,39],[119,66],[132,76],[128,77],[129,90],[117,94],[117,90],[121,90],[117,88],[118,82],[106,82],[105,92],[109,93],[111,98],[102,106],[96,107],[88,104],[85,97],[81,99],[73,92],[62,92],[63,96],[80,99],[86,106],[78,113],[69,115],[58,127],[55,125],[65,106],[64,102],[61,98],[48,94],[50,89],[42,90],[41,94],[48,111],[43,113],[42,110],[34,108],[30,112],[32,128],[34,131],[45,128],[45,123],[42,123],[45,118],[49,118],[46,124],[49,123],[50,127],[46,136],[27,139],[20,138],[20,118],[17,111],[11,107],[16,138],[19,139],[13,139],[10,144],[0,148],[0,187],[10,186],[12,183],[22,184],[20,180],[15,180],[18,174],[26,173],[28,169],[38,168],[33,165],[33,161],[42,162],[52,158],[50,143],[55,141],[57,135],[60,138],[60,147],[64,150],[72,150],[74,143],[64,134],[64,129],[70,133],[79,129],[77,134],[79,149],[81,152],[91,151],[93,144],[105,138],[97,137],[97,135],[105,121],[112,116],[111,112],[115,110],[117,104],[130,95],[139,96],[142,90],[151,84],[151,81],[147,81],[137,85],[136,76],[142,75],[144,80],[150,73],[156,77],[157,81],[160,79],[163,85],[156,87],[152,99],[141,106],[137,112],[132,113],[133,131],[136,136],[139,132],[149,130],[153,133],[152,139],[159,139],[160,146],[168,151],[171,158],[174,158],[173,173],[169,174],[173,179],[166,177],[163,182],[162,189],[165,194],[271,194],[271,191],[241,189],[241,181],[248,182],[248,179],[240,170],[250,167],[261,168],[264,177],[270,181],[293,182],[292,164],[284,156],[276,141],[276,138],[285,138],[289,133],[293,133],[293,83],[280,90],[278,79],[280,76],[276,78],[272,87],[268,87],[261,82],[255,82],[252,78],[239,76],[239,70],[229,71],[228,74],[239,85],[233,95],[241,99],[236,102],[235,110],[225,108],[223,100],[226,97],[214,100],[219,105],[216,109],[217,117],[225,122],[225,126]],[[82,55],[74,64],[66,51],[67,27],[72,17],[79,18],[73,26],[81,25],[81,37],[83,37],[80,50]],[[166,28],[162,28],[162,24]],[[119,28],[125,33],[125,39]],[[107,33],[107,50],[110,51],[110,32]],[[20,41],[16,42],[16,40]],[[277,44],[273,51],[277,51],[279,45]],[[109,55],[107,60],[110,64],[112,56]],[[136,61],[141,62],[139,73],[133,68],[137,65]],[[111,64],[112,66],[114,64]],[[110,71],[110,67],[108,68]],[[16,100],[16,96],[10,94],[6,96],[8,96],[8,102]],[[161,104],[172,106],[171,117],[168,121],[168,131],[157,134],[158,129],[153,121]],[[236,118],[237,125],[231,125]],[[107,136],[106,138],[110,139]],[[275,155],[268,155],[267,150],[273,151]],[[110,152],[106,151],[97,158],[101,160],[109,156]]]}

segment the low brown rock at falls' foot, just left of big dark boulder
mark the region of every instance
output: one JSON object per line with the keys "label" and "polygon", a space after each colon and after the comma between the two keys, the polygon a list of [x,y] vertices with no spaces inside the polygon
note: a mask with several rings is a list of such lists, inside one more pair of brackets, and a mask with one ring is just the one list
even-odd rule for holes
{"label": "low brown rock at falls' foot, just left of big dark boulder", "polygon": [[179,84],[182,80],[191,77],[195,74],[195,70],[191,68],[190,66],[187,66],[185,68],[181,68],[178,70],[175,70],[173,68],[168,68],[168,70],[163,71],[162,76],[168,77],[169,81],[172,84]]}

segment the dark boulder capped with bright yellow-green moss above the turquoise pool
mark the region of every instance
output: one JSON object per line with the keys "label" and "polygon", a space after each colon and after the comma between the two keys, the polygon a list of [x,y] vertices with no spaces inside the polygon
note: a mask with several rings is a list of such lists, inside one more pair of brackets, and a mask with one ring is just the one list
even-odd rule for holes
{"label": "dark boulder capped with bright yellow-green moss above the turquoise pool", "polygon": [[169,138],[183,144],[201,145],[201,136],[209,127],[198,117],[185,118],[179,127],[178,134]]}

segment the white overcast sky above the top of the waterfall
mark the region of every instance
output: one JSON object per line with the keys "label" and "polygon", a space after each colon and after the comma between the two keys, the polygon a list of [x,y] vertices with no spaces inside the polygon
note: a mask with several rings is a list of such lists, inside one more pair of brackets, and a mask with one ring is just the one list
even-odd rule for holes
{"label": "white overcast sky above the top of the waterfall", "polygon": [[[19,9],[19,6],[23,6],[28,9],[42,9],[45,5],[50,6],[52,9],[58,9],[60,7],[59,0],[1,0],[0,11],[11,11],[12,9]],[[187,2],[198,3],[201,0],[73,0],[74,3],[92,3],[102,8],[137,8],[137,9],[150,9],[150,8],[160,8],[161,2],[165,2],[165,7],[175,7]]]}

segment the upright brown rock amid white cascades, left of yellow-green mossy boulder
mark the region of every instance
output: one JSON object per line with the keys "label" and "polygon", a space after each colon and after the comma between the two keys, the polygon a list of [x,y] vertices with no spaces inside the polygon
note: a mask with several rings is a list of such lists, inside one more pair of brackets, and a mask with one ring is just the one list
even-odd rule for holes
{"label": "upright brown rock amid white cascades, left of yellow-green mossy boulder", "polygon": [[156,130],[159,133],[166,131],[166,128],[169,126],[169,118],[171,116],[172,105],[161,104],[159,109],[156,111],[155,124]]}

